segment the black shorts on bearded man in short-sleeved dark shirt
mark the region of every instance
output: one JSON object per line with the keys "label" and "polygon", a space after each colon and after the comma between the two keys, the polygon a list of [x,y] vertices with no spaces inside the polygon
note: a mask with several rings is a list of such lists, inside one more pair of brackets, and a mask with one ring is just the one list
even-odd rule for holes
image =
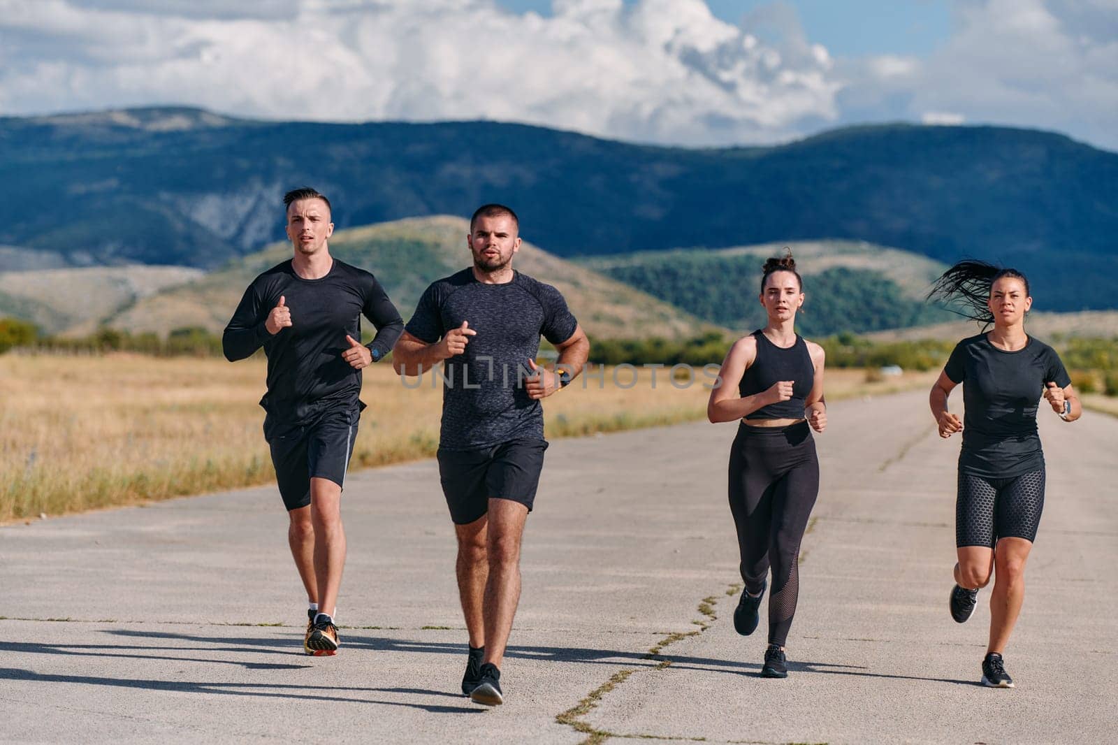
{"label": "black shorts on bearded man in short-sleeved dark shirt", "polygon": [[455,525],[489,510],[489,500],[511,499],[532,511],[548,443],[531,437],[481,450],[438,450],[438,477]]}

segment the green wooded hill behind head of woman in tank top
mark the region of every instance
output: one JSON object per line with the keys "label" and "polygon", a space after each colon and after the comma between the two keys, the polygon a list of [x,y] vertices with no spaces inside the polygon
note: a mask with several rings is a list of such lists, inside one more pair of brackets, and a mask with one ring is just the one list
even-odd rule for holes
{"label": "green wooded hill behind head of woman in tank top", "polygon": [[760,268],[792,249],[806,300],[797,326],[808,336],[865,332],[936,323],[951,314],[923,302],[937,262],[896,248],[844,241],[735,248],[685,248],[584,260],[615,280],[644,290],[703,320],[738,331],[762,326]]}

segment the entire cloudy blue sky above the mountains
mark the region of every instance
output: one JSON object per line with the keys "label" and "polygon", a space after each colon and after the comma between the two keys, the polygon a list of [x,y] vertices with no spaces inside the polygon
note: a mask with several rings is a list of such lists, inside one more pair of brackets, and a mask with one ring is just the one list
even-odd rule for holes
{"label": "entire cloudy blue sky above the mountains", "polygon": [[1118,150],[1118,0],[0,0],[0,115],[172,103],[685,145],[998,124]]}

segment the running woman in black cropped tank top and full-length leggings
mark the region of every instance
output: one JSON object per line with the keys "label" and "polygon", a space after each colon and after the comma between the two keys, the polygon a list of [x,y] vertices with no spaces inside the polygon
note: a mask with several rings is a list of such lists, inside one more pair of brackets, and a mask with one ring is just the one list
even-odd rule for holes
{"label": "running woman in black cropped tank top and full-length leggings", "polygon": [[765,262],[760,301],[768,323],[730,348],[707,416],[711,422],[741,419],[729,474],[745,583],[733,626],[747,636],[757,629],[771,569],[769,643],[761,676],[784,678],[785,640],[799,595],[799,544],[819,491],[812,430],[823,432],[827,414],[823,348],[794,328],[804,291],[790,253]]}

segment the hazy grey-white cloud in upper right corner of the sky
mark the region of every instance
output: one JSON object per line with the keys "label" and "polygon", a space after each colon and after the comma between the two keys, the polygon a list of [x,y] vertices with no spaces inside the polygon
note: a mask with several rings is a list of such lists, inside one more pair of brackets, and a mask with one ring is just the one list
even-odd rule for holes
{"label": "hazy grey-white cloud in upper right corner of the sky", "polygon": [[1118,1],[957,0],[955,16],[925,59],[849,60],[843,121],[958,117],[1118,149]]}

